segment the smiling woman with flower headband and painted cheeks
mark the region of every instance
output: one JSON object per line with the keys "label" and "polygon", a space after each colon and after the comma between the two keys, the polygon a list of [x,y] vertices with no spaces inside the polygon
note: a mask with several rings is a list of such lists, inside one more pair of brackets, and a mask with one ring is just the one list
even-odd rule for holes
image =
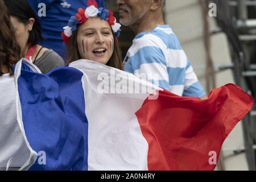
{"label": "smiling woman with flower headband and painted cheeks", "polygon": [[123,70],[121,50],[117,44],[121,24],[113,12],[89,6],[71,16],[61,34],[68,44],[68,63],[88,59]]}

